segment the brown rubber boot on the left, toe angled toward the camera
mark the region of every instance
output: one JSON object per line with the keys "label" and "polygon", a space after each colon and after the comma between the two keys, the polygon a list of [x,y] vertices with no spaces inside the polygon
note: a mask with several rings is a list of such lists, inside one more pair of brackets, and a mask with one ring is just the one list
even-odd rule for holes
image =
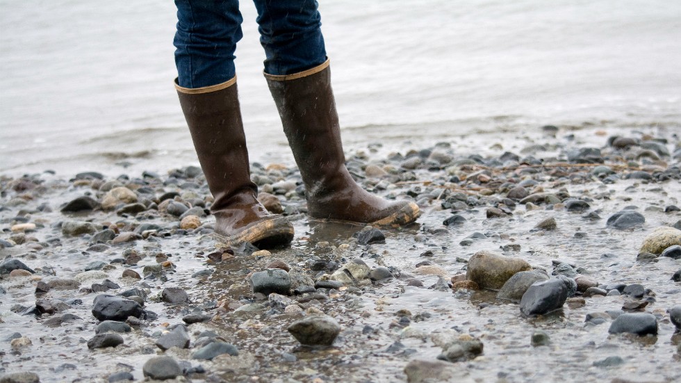
{"label": "brown rubber boot on the left, toe angled toward the camera", "polygon": [[236,77],[204,88],[182,88],[177,95],[192,134],[199,163],[215,201],[215,233],[227,245],[249,242],[259,248],[286,245],[293,225],[270,214],[256,199],[251,181]]}

